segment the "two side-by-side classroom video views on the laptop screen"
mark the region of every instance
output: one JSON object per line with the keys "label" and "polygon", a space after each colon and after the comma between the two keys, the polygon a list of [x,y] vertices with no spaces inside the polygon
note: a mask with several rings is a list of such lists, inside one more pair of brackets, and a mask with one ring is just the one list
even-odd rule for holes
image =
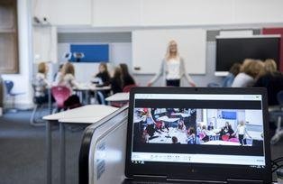
{"label": "two side-by-side classroom video views on the laptop screen", "polygon": [[262,146],[261,110],[134,108],[135,143]]}

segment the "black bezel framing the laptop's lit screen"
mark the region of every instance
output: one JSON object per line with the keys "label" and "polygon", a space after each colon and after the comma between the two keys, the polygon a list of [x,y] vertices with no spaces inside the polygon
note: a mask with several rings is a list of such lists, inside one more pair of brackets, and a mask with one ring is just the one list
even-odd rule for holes
{"label": "black bezel framing the laptop's lit screen", "polygon": [[[128,131],[126,146],[126,162],[125,176],[134,178],[135,176],[144,177],[160,177],[162,179],[188,179],[188,180],[215,180],[226,181],[227,179],[262,179],[264,183],[272,180],[270,166],[270,145],[269,139],[264,139],[264,155],[266,159],[266,167],[264,169],[251,168],[241,170],[238,166],[233,167],[209,167],[209,164],[203,166],[193,166],[189,164],[156,162],[154,165],[133,164],[132,155],[132,119],[133,105],[135,94],[225,94],[225,95],[261,95],[262,96],[262,113],[263,113],[263,130],[264,137],[269,137],[269,121],[268,121],[268,103],[267,91],[265,88],[230,88],[230,87],[134,87],[130,92],[129,115],[128,115]],[[205,166],[206,165],[206,166]],[[223,166],[223,165],[221,165]]]}

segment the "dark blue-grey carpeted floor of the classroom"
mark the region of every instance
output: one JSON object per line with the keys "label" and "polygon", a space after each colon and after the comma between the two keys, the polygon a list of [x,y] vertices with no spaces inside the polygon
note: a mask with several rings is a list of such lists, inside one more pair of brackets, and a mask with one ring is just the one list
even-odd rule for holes
{"label": "dark blue-grey carpeted floor of the classroom", "polygon": [[[46,183],[45,127],[29,124],[31,111],[0,117],[0,184]],[[59,183],[59,127],[52,133],[52,183]],[[83,129],[66,128],[66,183],[78,184],[78,152]],[[283,156],[283,140],[271,146],[272,159]],[[275,180],[275,178],[274,178]]]}

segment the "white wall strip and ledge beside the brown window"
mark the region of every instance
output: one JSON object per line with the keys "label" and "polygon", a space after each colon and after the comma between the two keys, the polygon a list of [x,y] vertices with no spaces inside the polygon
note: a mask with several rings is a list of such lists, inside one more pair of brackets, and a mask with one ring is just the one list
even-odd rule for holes
{"label": "white wall strip and ledge beside the brown window", "polygon": [[19,74],[3,75],[4,79],[14,81],[14,92],[24,92],[24,95],[15,98],[19,108],[32,106],[32,34],[31,34],[31,2],[18,0],[18,38],[19,38]]}

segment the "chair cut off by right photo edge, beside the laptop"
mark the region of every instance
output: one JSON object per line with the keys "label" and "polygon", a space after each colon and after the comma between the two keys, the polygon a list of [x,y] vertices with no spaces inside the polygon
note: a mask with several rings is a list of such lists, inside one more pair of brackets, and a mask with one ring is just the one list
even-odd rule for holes
{"label": "chair cut off by right photo edge, beside the laptop", "polygon": [[278,141],[283,137],[283,128],[281,128],[281,121],[283,117],[283,90],[278,92],[277,100],[279,104],[279,110],[269,112],[269,121],[277,119],[277,128],[275,134],[270,140],[271,144],[278,143]]}

